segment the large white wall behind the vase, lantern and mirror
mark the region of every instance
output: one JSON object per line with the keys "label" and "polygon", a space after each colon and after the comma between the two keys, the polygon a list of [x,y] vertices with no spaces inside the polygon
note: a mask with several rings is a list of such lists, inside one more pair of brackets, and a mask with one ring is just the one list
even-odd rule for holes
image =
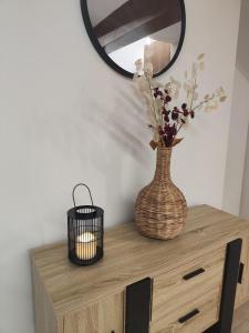
{"label": "large white wall behind the vase, lantern and mirror", "polygon": [[[0,1],[1,333],[33,332],[28,251],[65,238],[72,186],[86,182],[112,225],[132,220],[154,172],[143,107],[94,51],[79,2]],[[230,97],[240,2],[186,7],[187,36],[170,72],[183,77],[205,52],[203,92],[222,84]],[[222,204],[229,118],[230,99],[200,114],[175,149],[173,175],[189,204]]]}

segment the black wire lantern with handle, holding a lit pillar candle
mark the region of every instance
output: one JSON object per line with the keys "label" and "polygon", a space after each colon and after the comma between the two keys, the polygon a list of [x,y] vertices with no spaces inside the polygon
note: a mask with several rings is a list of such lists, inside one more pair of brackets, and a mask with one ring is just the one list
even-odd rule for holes
{"label": "black wire lantern with handle, holding a lit pillar candle", "polygon": [[[85,186],[92,205],[75,204],[74,192]],[[68,211],[69,259],[77,265],[92,265],[103,258],[104,211],[93,204],[91,191],[85,184],[73,189],[74,208]]]}

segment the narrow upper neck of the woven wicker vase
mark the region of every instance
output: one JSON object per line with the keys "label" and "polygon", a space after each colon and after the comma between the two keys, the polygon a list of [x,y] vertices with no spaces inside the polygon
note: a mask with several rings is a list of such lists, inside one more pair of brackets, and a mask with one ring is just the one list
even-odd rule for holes
{"label": "narrow upper neck of the woven wicker vase", "polygon": [[155,172],[154,180],[160,182],[172,181],[170,160],[172,160],[172,149],[167,149],[167,148],[157,149],[156,172]]}

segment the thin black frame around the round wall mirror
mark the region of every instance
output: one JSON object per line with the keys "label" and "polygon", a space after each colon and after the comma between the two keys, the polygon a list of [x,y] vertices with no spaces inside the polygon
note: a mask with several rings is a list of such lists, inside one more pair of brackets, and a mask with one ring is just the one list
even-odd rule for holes
{"label": "thin black frame around the round wall mirror", "polygon": [[[176,53],[174,54],[172,61],[158,73],[154,74],[154,77],[158,77],[160,74],[163,74],[164,72],[166,72],[177,60],[183,44],[184,44],[184,39],[185,39],[185,33],[186,33],[186,8],[185,8],[185,2],[184,0],[178,0],[180,2],[180,10],[181,10],[181,32],[180,32],[180,39],[179,39],[179,43],[176,50]],[[92,42],[92,44],[94,46],[95,50],[97,51],[97,53],[101,56],[101,58],[116,72],[118,72],[120,74],[132,79],[133,78],[133,73],[124,70],[122,67],[120,67],[118,64],[116,64],[116,62],[114,62],[108,56],[107,53],[104,51],[104,49],[102,48],[102,46],[100,44],[97,38],[95,37],[95,34],[93,33],[93,27],[90,20],[90,14],[89,14],[89,8],[87,8],[87,0],[81,0],[81,11],[82,11],[82,17],[83,17],[83,21],[85,24],[85,29],[86,32],[89,34],[89,38]]]}

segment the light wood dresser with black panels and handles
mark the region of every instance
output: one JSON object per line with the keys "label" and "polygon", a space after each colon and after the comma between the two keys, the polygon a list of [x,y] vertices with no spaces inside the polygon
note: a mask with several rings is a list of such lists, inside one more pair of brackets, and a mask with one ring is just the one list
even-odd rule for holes
{"label": "light wood dresser with black panels and handles", "polygon": [[228,213],[193,208],[172,241],[133,223],[104,240],[87,268],[70,263],[65,242],[32,250],[37,333],[229,333],[249,299],[249,222]]}

